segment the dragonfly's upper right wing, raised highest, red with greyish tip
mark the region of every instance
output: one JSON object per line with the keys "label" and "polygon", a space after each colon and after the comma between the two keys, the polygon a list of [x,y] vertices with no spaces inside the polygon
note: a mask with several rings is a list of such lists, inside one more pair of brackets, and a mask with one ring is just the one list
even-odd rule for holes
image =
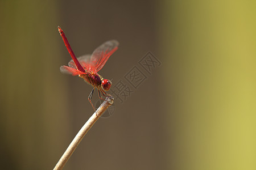
{"label": "dragonfly's upper right wing, raised highest, red with greyish tip", "polygon": [[108,61],[109,57],[118,49],[118,41],[110,40],[99,46],[90,57],[90,69],[98,72]]}

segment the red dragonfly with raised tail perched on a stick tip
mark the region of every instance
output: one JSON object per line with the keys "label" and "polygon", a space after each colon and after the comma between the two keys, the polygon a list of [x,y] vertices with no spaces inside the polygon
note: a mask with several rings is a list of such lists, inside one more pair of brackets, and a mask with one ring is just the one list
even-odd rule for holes
{"label": "red dragonfly with raised tail perched on a stick tip", "polygon": [[92,104],[92,95],[95,88],[98,89],[98,96],[100,97],[100,99],[102,99],[100,92],[105,97],[111,96],[105,91],[108,91],[112,85],[112,82],[110,80],[104,79],[97,72],[102,69],[106,61],[108,61],[109,57],[118,49],[119,43],[116,40],[107,41],[98,48],[96,48],[96,50],[94,50],[92,54],[86,54],[84,56],[76,58],[63,30],[59,26],[58,29],[61,37],[63,38],[64,44],[72,57],[71,61],[69,61],[68,63],[68,66],[61,66],[60,71],[61,73],[68,73],[72,74],[73,76],[78,75],[80,76],[80,78],[83,78],[85,82],[93,86],[93,90],[92,92],[90,92],[88,100],[92,105],[94,111],[96,111]]}

